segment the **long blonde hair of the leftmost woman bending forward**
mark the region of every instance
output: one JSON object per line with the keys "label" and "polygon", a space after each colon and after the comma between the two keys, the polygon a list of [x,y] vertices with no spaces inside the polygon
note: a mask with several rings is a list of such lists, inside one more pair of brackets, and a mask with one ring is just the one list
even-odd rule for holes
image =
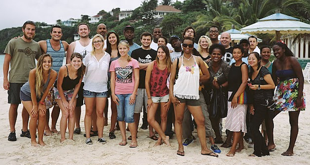
{"label": "long blonde hair of the leftmost woman bending forward", "polygon": [[35,68],[35,94],[38,97],[41,97],[43,94],[43,86],[44,86],[44,78],[43,78],[43,59],[45,57],[51,58],[51,64],[53,64],[53,58],[49,54],[42,54],[38,59],[36,63]]}

